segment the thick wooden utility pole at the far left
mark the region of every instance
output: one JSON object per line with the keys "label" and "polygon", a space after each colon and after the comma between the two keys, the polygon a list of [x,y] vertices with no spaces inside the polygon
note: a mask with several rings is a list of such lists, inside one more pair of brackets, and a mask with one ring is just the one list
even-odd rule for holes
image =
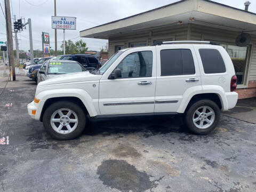
{"label": "thick wooden utility pole at the far left", "polygon": [[8,57],[10,65],[10,75],[12,75],[13,81],[16,80],[15,66],[14,66],[14,54],[13,54],[13,41],[12,41],[12,20],[10,12],[10,0],[4,0],[5,6],[5,21],[6,21],[6,36],[8,42]]}

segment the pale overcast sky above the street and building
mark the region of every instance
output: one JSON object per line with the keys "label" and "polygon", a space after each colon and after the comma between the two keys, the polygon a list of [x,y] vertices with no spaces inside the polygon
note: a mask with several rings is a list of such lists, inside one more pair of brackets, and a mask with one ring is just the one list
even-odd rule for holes
{"label": "pale overcast sky above the street and building", "polygon": [[[244,9],[245,0],[213,0],[222,4]],[[4,9],[4,0],[0,3]],[[31,18],[34,50],[42,49],[42,31],[50,34],[50,46],[54,49],[54,29],[51,28],[51,16],[54,15],[54,0],[10,0],[11,15],[22,17],[26,21]],[[79,31],[101,25],[106,22],[129,17],[130,15],[148,11],[159,6],[177,2],[177,0],[57,0],[57,15],[76,17],[76,30],[66,30],[66,40],[79,40]],[[0,10],[0,41],[6,41],[5,19]],[[249,11],[256,12],[256,1],[251,0]],[[58,49],[63,40],[63,30],[57,30]],[[18,33],[19,49],[29,50],[28,27]],[[107,40],[81,38],[87,43],[89,50],[100,50]],[[15,49],[15,47],[14,47]]]}

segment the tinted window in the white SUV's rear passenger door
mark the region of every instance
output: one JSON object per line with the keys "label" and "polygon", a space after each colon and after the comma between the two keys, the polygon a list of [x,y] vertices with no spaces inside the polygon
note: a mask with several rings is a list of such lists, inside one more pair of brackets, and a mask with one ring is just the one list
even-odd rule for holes
{"label": "tinted window in the white SUV's rear passenger door", "polygon": [[193,56],[187,49],[161,50],[161,76],[195,74]]}

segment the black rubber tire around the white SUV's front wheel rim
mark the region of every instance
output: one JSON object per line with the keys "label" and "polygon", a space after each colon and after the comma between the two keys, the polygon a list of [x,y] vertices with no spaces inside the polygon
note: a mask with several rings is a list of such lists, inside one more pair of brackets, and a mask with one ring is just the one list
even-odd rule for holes
{"label": "black rubber tire around the white SUV's front wheel rim", "polygon": [[[78,117],[78,125],[73,132],[70,132],[67,134],[61,134],[61,133],[54,131],[54,129],[52,128],[51,116],[54,113],[54,111],[61,109],[61,108],[68,108],[68,109],[73,110],[76,113],[76,115]],[[69,140],[69,139],[77,138],[84,131],[86,122],[87,122],[87,120],[86,120],[86,114],[84,113],[84,110],[81,107],[79,107],[76,103],[70,102],[70,101],[64,101],[64,100],[52,103],[52,105],[47,107],[47,109],[45,110],[44,115],[43,115],[43,125],[44,125],[46,131],[54,139],[58,139],[58,140]]]}

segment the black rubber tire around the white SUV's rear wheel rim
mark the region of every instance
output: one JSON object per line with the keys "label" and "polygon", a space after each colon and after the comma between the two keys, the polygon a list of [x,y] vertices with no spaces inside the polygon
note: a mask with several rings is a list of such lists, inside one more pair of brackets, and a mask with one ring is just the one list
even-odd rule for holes
{"label": "black rubber tire around the white SUV's rear wheel rim", "polygon": [[[195,111],[201,106],[208,106],[208,107],[212,108],[214,111],[214,115],[215,115],[213,123],[205,129],[199,129],[197,126],[194,125],[194,122],[193,122],[193,118],[194,118],[193,115],[194,115]],[[208,99],[199,100],[199,101],[196,101],[195,103],[193,103],[188,108],[188,110],[184,114],[184,120],[185,120],[185,124],[188,127],[188,129],[190,131],[192,131],[193,133],[207,134],[207,133],[212,132],[218,125],[218,123],[220,121],[220,108],[215,102],[213,102],[211,100],[208,100]]]}

